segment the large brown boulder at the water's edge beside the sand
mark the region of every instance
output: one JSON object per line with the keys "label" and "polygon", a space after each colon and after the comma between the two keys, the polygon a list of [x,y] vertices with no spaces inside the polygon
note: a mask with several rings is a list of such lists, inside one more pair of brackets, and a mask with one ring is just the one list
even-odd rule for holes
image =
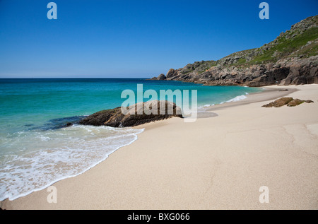
{"label": "large brown boulder at the water's edge beside the sand", "polygon": [[[165,108],[161,108],[160,104],[165,105]],[[117,107],[110,110],[96,112],[95,114],[91,114],[82,119],[79,124],[94,126],[105,125],[112,127],[136,126],[170,117],[182,117],[181,109],[177,107],[175,103],[168,102],[166,100],[153,100],[150,102],[136,103],[135,105],[131,105],[129,108],[124,108],[127,111],[125,114],[122,113],[121,109],[121,107]],[[155,114],[155,112],[157,114]]]}

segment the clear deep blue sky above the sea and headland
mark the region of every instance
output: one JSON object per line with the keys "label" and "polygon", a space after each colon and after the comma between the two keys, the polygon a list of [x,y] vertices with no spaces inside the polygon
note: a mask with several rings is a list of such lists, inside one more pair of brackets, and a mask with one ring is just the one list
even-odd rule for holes
{"label": "clear deep blue sky above the sea and headland", "polygon": [[[0,78],[151,78],[261,47],[317,0],[0,0]],[[264,1],[264,0],[263,0]]]}

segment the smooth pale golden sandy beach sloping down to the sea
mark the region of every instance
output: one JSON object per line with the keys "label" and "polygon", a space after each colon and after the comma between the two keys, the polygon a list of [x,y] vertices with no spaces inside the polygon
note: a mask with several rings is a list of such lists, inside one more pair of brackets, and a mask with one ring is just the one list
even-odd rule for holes
{"label": "smooth pale golden sandy beach sloping down to the sea", "polygon": [[[287,88],[288,91],[278,91]],[[267,86],[210,107],[216,117],[172,118],[82,175],[2,201],[4,209],[318,209],[318,85]],[[313,100],[265,108],[283,95]],[[259,188],[269,188],[269,203]]]}

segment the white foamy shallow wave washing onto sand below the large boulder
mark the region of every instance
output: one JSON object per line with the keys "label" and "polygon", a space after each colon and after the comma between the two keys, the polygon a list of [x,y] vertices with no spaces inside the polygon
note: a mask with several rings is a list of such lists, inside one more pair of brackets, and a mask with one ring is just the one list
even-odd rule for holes
{"label": "white foamy shallow wave washing onto sand below the large boulder", "polygon": [[[137,139],[143,129],[74,125],[49,131],[23,131],[6,144],[17,148],[0,160],[0,200],[18,199],[75,177]],[[36,142],[36,143],[35,143]]]}

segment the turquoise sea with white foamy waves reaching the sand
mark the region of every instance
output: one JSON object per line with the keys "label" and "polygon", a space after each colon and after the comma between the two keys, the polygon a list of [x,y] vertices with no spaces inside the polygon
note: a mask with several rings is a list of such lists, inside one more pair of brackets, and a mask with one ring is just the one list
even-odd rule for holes
{"label": "turquoise sea with white foamy waves reaching the sand", "polygon": [[[73,125],[122,105],[122,90],[197,90],[198,106],[240,100],[258,88],[145,79],[0,79],[0,200],[85,172],[136,140],[142,129]],[[146,101],[148,99],[145,99]]]}

